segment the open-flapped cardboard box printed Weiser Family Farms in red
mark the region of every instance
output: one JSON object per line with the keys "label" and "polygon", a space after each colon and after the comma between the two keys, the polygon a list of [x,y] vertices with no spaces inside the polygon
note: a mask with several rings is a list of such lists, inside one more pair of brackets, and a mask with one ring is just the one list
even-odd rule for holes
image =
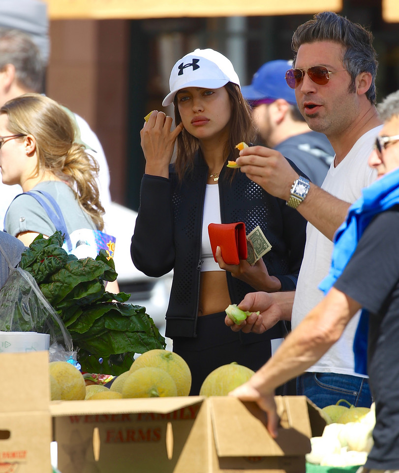
{"label": "open-flapped cardboard box printed Weiser Family Farms in red", "polygon": [[[305,397],[265,413],[232,397],[53,401],[61,473],[305,473],[312,430]],[[311,408],[311,406],[310,406]]]}

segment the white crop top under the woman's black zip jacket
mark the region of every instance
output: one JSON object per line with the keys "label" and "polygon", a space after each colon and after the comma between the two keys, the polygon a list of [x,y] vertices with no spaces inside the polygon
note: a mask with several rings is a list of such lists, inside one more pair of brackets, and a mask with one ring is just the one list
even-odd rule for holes
{"label": "white crop top under the woman's black zip jacket", "polygon": [[209,240],[208,225],[210,223],[221,223],[219,186],[217,184],[207,184],[205,191],[204,215],[202,221],[202,244],[201,244],[201,265],[202,271],[224,271],[215,262],[212,254],[211,242]]}

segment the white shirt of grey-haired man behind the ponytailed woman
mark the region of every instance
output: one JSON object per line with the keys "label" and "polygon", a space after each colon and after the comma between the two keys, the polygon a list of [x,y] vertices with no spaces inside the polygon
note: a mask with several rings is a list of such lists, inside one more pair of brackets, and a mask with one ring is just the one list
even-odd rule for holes
{"label": "white shirt of grey-haired man behind the ponytailed woman", "polygon": [[[109,191],[110,175],[108,163],[105,158],[104,150],[102,149],[101,143],[97,138],[97,135],[92,131],[89,124],[79,115],[74,114],[76,123],[80,129],[80,136],[84,143],[86,143],[94,151],[88,150],[92,157],[97,161],[99,165],[99,173],[97,178],[98,191],[100,194],[100,201],[105,210],[104,215],[104,228],[107,230],[107,210],[111,204],[111,194]],[[0,179],[0,226],[3,229],[3,222],[5,212],[8,206],[12,202],[15,196],[22,193],[22,188],[19,185],[7,186],[3,184]]]}

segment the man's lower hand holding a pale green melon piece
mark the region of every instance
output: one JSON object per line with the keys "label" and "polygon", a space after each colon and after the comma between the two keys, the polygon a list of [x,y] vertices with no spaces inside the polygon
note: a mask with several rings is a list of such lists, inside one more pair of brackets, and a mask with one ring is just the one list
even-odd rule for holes
{"label": "man's lower hand holding a pale green melon piece", "polygon": [[[280,295],[284,293],[277,294]],[[266,330],[275,326],[279,320],[286,319],[274,296],[275,294],[269,294],[267,292],[250,292],[246,294],[245,298],[240,302],[240,304],[238,304],[238,308],[253,313],[251,313],[251,315],[249,315],[240,325],[235,324],[227,315],[224,319],[224,323],[228,327],[231,327],[233,332],[239,332],[242,330],[245,334],[249,332],[263,334]],[[260,312],[259,315],[255,313],[258,310]]]}

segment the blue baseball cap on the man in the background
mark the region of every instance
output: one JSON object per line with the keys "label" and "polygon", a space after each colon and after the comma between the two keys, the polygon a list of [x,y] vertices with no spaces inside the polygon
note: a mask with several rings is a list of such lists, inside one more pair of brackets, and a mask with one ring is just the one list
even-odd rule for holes
{"label": "blue baseball cap on the man in the background", "polygon": [[291,61],[265,63],[253,74],[251,84],[241,88],[244,98],[247,101],[284,99],[296,105],[295,90],[288,87],[285,80],[285,72],[291,68]]}

